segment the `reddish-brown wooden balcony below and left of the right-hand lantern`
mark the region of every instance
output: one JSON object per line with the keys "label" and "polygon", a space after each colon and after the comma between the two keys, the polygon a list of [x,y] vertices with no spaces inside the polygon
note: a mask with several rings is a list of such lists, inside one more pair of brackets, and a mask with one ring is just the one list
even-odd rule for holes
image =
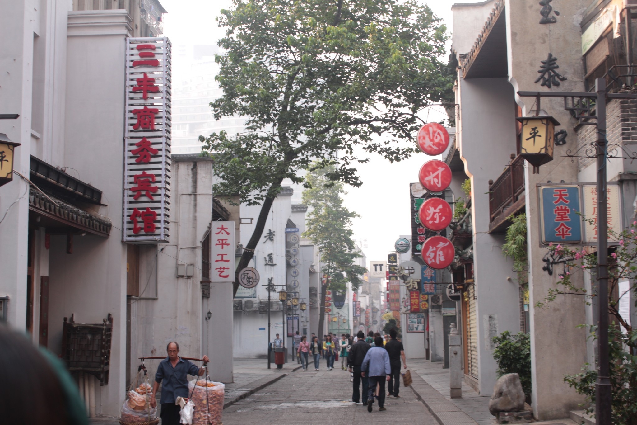
{"label": "reddish-brown wooden balcony below and left of the right-hand lantern", "polygon": [[508,218],[524,208],[524,159],[517,156],[493,183],[489,184],[489,233],[504,234]]}

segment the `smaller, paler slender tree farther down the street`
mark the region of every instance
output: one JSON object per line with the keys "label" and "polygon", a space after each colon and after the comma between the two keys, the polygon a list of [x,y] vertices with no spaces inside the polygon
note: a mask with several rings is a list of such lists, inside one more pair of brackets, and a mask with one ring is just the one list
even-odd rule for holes
{"label": "smaller, paler slender tree farther down the street", "polygon": [[343,206],[343,184],[332,182],[327,177],[335,168],[327,166],[308,173],[306,180],[311,187],[303,191],[303,203],[311,208],[303,236],[318,246],[320,261],[323,263],[321,271],[324,283],[320,292],[318,335],[322,332],[325,321],[327,290],[347,291],[347,284],[351,283],[352,291],[356,291],[362,283],[361,275],[367,271],[354,264],[361,254],[352,239],[354,233],[350,226],[352,219],[358,217],[358,214]]}

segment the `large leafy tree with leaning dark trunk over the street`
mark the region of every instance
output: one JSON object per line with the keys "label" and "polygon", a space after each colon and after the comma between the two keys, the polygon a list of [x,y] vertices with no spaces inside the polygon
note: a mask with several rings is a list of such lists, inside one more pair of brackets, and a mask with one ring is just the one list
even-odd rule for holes
{"label": "large leafy tree with leaning dark trunk over the street", "polygon": [[283,179],[301,183],[299,171],[338,154],[326,176],[358,186],[355,165],[368,158],[355,150],[408,157],[415,145],[396,142],[413,140],[423,108],[452,103],[454,69],[438,59],[445,25],[416,0],[234,0],[218,22],[224,94],[210,105],[215,119],[246,117],[247,131],[199,140],[215,157],[215,194],[262,206],[240,270]]}

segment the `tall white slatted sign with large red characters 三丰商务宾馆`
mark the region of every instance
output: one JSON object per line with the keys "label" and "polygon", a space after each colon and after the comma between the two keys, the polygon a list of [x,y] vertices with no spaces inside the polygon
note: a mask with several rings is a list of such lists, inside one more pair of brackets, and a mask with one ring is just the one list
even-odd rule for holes
{"label": "tall white slatted sign with large red characters \u4e09\u4e30\u5546\u52a1\u5bbe\u9986", "polygon": [[169,241],[170,49],[166,37],[126,39],[124,242]]}

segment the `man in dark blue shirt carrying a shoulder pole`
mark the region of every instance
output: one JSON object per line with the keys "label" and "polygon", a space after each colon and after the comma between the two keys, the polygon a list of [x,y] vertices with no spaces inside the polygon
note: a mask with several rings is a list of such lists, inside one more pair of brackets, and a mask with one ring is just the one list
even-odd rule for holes
{"label": "man in dark blue shirt carrying a shoulder pole", "polygon": [[[162,385],[161,391],[161,423],[162,425],[178,425],[180,422],[180,405],[175,405],[178,396],[183,398],[190,397],[188,394],[187,375],[203,376],[204,368],[197,368],[189,360],[179,357],[179,344],[169,342],[166,345],[168,357],[159,363],[157,373],[155,373],[155,382],[153,384],[153,394],[157,394],[159,385]],[[208,363],[208,356],[203,356],[204,366]],[[150,398],[150,406],[157,407],[157,399],[153,396]]]}

